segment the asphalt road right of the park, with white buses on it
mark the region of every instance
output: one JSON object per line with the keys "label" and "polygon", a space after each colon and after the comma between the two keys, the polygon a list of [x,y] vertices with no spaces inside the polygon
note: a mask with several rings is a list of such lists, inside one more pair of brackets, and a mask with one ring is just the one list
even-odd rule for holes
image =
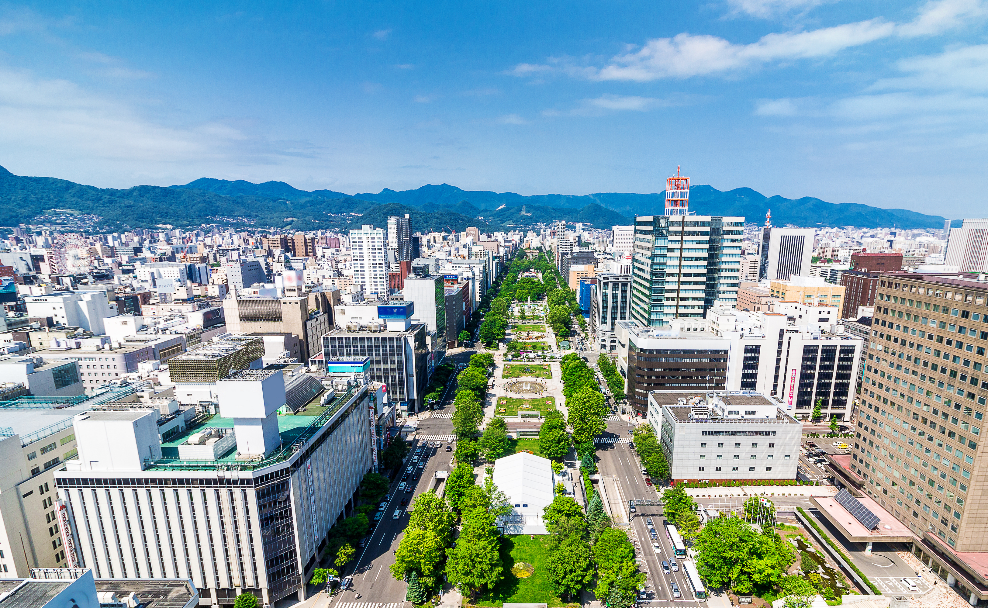
{"label": "asphalt road right of the park, with white buses on it", "polygon": [[[631,424],[628,422],[610,422],[603,437],[627,438],[628,429]],[[600,459],[598,469],[602,475],[617,476],[617,483],[620,485],[625,502],[623,507],[627,508],[627,500],[645,499],[658,500],[659,494],[655,487],[645,483],[644,476],[641,475],[641,465],[634,450],[626,443],[600,444],[597,447],[597,456]],[[625,515],[626,516],[626,515]],[[647,519],[652,519],[652,524],[656,532],[656,542],[659,543],[660,552],[657,554],[652,548],[650,529]],[[631,513],[631,539],[635,545],[635,553],[642,571],[646,572],[648,580],[646,591],[650,602],[696,602],[690,591],[690,585],[684,576],[682,560],[678,572],[666,574],[662,570],[661,562],[669,562],[674,556],[669,537],[666,535],[662,524],[661,506],[639,506],[636,512]],[[674,598],[670,583],[675,582],[682,597]]]}

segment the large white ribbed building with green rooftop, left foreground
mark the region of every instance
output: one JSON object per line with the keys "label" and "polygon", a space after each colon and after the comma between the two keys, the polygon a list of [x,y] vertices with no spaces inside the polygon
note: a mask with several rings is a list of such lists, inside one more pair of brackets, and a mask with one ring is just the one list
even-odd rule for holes
{"label": "large white ribbed building with green rooftop, left foreground", "polygon": [[201,605],[304,599],[329,529],[373,468],[383,393],[366,377],[337,377],[318,416],[272,413],[282,373],[261,370],[218,382],[219,413],[177,432],[160,433],[149,409],[77,415],[79,458],[55,478],[79,564],[98,578],[192,579]]}

